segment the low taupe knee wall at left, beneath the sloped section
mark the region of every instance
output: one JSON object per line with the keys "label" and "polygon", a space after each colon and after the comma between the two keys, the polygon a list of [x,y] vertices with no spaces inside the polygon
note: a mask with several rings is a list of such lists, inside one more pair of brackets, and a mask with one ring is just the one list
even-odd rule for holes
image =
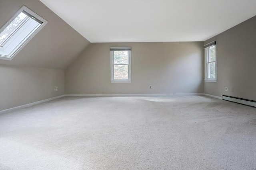
{"label": "low taupe knee wall at left, beneath the sloped section", "polygon": [[63,94],[64,70],[0,65],[0,110]]}

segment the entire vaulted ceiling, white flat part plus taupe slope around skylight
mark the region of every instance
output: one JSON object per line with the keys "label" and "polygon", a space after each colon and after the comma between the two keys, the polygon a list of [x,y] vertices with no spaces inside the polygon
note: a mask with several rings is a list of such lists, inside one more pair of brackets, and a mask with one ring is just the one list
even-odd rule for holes
{"label": "entire vaulted ceiling, white flat part plus taupe slope around skylight", "polygon": [[0,27],[22,5],[48,23],[0,64],[65,69],[90,43],[204,41],[256,15],[256,0],[0,0]]}

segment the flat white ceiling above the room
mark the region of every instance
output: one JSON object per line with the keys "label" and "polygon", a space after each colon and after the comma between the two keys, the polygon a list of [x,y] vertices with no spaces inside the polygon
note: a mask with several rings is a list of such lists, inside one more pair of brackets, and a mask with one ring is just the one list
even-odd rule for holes
{"label": "flat white ceiling above the room", "polygon": [[40,1],[91,43],[205,41],[256,15],[256,0]]}

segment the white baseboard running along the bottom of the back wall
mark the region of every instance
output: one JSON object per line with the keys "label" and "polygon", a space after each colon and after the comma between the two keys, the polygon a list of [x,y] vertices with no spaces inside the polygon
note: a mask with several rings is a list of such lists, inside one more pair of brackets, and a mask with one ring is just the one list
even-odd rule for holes
{"label": "white baseboard running along the bottom of the back wall", "polygon": [[107,97],[107,96],[170,96],[170,95],[204,95],[203,93],[182,93],[182,94],[66,94],[69,97]]}

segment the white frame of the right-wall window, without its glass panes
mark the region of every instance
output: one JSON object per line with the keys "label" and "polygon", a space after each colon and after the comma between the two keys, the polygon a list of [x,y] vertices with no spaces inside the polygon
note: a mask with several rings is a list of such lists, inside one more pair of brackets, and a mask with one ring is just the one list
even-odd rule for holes
{"label": "white frame of the right-wall window, without its glass panes", "polygon": [[[215,46],[215,61],[208,62],[209,60],[209,49],[210,47]],[[217,43],[216,41],[212,41],[206,45],[204,45],[204,56],[205,56],[205,82],[217,82]],[[208,78],[208,63],[215,63],[215,78]]]}

